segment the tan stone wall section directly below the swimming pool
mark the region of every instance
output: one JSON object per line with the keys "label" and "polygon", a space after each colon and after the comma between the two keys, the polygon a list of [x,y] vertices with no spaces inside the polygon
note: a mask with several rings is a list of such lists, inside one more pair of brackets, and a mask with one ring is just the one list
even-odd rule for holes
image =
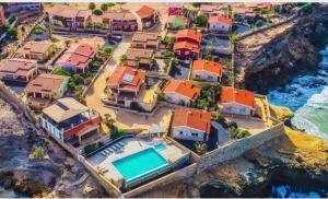
{"label": "tan stone wall section directly below the swimming pool", "polygon": [[189,178],[189,177],[194,176],[196,174],[196,172],[197,172],[197,164],[194,163],[187,167],[184,167],[174,173],[167,174],[159,179],[154,179],[145,185],[134,188],[128,192],[125,192],[125,194],[122,194],[122,197],[124,198],[137,197],[138,195],[141,195],[142,192],[150,190],[152,188],[155,188],[157,186],[163,186],[163,185],[169,184],[169,183],[178,180],[178,179]]}

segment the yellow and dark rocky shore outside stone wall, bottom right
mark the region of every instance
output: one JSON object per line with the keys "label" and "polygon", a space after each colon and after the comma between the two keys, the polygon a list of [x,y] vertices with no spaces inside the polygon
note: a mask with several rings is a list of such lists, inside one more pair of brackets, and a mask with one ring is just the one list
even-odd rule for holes
{"label": "yellow and dark rocky shore outside stone wall, bottom right", "polygon": [[[286,108],[274,110],[291,114]],[[285,127],[285,134],[268,145],[140,197],[265,197],[277,176],[328,190],[328,142]]]}

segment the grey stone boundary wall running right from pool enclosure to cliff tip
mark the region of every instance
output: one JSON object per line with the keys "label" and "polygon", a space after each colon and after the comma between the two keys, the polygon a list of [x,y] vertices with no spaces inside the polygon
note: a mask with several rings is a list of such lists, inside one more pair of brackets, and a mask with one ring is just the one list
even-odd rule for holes
{"label": "grey stone boundary wall running right from pool enclosure to cliff tip", "polygon": [[219,163],[238,157],[246,151],[263,145],[276,138],[281,137],[283,133],[283,124],[280,122],[260,133],[236,140],[227,145],[221,147],[200,156],[197,172],[201,173],[204,169],[210,168],[211,166],[214,166]]}

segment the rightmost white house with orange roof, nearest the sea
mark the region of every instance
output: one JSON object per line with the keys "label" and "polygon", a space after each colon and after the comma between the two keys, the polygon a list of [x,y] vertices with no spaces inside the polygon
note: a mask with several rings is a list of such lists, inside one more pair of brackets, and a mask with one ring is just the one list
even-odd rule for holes
{"label": "rightmost white house with orange roof, nearest the sea", "polygon": [[222,113],[251,116],[255,113],[254,93],[234,87],[222,87]]}

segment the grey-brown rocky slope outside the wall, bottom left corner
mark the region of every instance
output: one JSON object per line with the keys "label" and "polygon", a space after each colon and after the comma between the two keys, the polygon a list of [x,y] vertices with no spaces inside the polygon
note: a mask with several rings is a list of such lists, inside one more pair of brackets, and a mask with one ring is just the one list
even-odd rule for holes
{"label": "grey-brown rocky slope outside the wall, bottom left corner", "polygon": [[[31,159],[43,147],[47,155]],[[15,191],[20,197],[105,197],[103,188],[70,154],[0,98],[0,196]],[[2,192],[2,194],[1,194]],[[108,196],[107,196],[108,197]]]}

